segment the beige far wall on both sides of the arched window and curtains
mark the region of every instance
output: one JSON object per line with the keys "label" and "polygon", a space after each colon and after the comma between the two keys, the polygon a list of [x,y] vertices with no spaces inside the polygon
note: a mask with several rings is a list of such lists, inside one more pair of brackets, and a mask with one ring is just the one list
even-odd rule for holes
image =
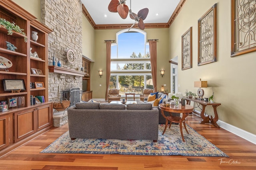
{"label": "beige far wall on both sides of the arched window and curtains", "polygon": [[[105,98],[106,92],[106,43],[104,40],[116,40],[120,29],[95,30],[95,63],[91,64],[91,90],[93,98]],[[170,91],[170,64],[168,59],[168,29],[145,29],[146,39],[159,39],[157,42],[157,89],[166,84]],[[100,78],[98,70],[103,70]],[[160,69],[165,69],[164,77]],[[101,84],[101,86],[100,86]]]}

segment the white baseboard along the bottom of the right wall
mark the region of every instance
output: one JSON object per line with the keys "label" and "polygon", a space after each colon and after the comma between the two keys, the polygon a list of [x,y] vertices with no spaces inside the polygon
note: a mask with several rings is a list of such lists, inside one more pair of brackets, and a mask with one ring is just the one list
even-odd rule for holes
{"label": "white baseboard along the bottom of the right wall", "polygon": [[238,135],[239,137],[242,137],[243,139],[245,139],[245,140],[247,140],[251,143],[256,144],[256,135],[254,135],[250,132],[244,131],[243,129],[240,129],[240,128],[235,127],[233,125],[230,125],[230,124],[228,124],[224,121],[221,121],[221,120],[218,120],[217,123],[221,128],[223,128],[223,129],[225,129],[225,130],[227,130],[231,133],[234,133],[235,135]]}

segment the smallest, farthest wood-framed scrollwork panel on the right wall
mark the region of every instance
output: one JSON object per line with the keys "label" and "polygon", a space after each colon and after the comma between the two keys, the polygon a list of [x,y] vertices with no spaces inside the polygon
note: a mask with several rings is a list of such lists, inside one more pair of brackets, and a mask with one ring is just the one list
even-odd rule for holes
{"label": "smallest, farthest wood-framed scrollwork panel on the right wall", "polygon": [[190,27],[182,36],[182,70],[192,68],[192,27]]}

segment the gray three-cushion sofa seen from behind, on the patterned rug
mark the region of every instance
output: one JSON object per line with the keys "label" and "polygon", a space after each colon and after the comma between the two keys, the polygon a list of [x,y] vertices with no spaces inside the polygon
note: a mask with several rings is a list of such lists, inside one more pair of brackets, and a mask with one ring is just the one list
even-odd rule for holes
{"label": "gray three-cushion sofa seen from behind, on the patterned rug", "polygon": [[151,104],[77,103],[68,108],[70,138],[158,139],[158,109]]}

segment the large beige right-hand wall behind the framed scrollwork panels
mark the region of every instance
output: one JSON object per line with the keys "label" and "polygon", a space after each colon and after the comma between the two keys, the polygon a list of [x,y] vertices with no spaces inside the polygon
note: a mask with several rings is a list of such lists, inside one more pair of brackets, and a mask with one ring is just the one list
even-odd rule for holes
{"label": "large beige right-hand wall behind the framed scrollwork panels", "polygon": [[[197,66],[198,59],[198,19],[217,3],[217,62]],[[199,78],[208,81],[204,88],[205,97],[212,95],[214,101],[221,103],[217,107],[219,120],[240,129],[256,134],[254,113],[254,92],[256,63],[255,52],[237,57],[230,57],[231,21],[230,0],[187,0],[176,20],[169,29],[170,59],[178,55],[178,88],[197,92],[194,81]],[[181,70],[181,36],[192,27],[192,68]],[[207,108],[207,107],[206,107]],[[210,115],[213,110],[209,107]]]}

